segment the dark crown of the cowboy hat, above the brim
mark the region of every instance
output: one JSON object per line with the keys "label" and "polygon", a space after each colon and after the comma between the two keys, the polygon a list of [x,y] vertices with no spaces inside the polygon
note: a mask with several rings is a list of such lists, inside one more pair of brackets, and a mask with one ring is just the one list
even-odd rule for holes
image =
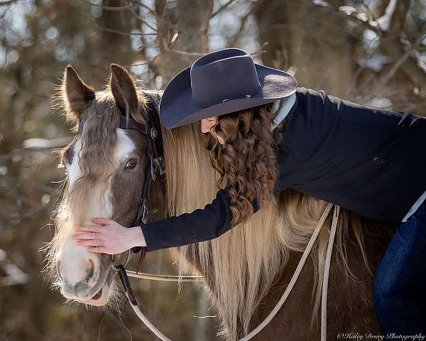
{"label": "dark crown of the cowboy hat, above the brim", "polygon": [[197,59],[190,78],[192,102],[200,107],[261,92],[253,58],[239,48],[226,48]]}

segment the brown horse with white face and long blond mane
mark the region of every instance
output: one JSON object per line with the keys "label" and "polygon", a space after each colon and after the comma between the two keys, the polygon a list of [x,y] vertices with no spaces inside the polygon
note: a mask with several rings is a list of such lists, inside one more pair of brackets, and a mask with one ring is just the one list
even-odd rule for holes
{"label": "brown horse with white face and long blond mane", "polygon": [[[70,65],[65,69],[61,98],[77,134],[61,151],[67,186],[55,212],[47,260],[55,288],[71,301],[103,306],[116,298],[111,256],[89,253],[70,236],[75,224],[89,223],[92,217],[109,217],[130,227],[138,214],[148,142],[136,130],[119,128],[122,117],[145,124],[151,111],[159,131],[165,183],[153,183],[149,207],[155,211],[149,221],[202,208],[218,190],[219,174],[200,139],[199,124],[161,126],[157,105],[161,94],[136,87],[119,65],[111,65],[109,84],[98,92]],[[202,274],[202,287],[220,319],[218,335],[238,340],[268,315],[326,205],[287,189],[217,239],[170,249],[181,275]],[[285,305],[253,340],[320,338],[318,308],[329,227],[327,219]],[[349,332],[380,333],[373,310],[374,271],[391,232],[385,224],[342,208],[329,273],[329,340]]]}

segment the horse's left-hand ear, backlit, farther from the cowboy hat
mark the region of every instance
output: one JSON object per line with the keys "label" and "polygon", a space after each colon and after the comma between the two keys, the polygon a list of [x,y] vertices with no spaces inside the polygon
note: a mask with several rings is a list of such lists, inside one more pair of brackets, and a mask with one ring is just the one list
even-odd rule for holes
{"label": "horse's left-hand ear, backlit, farther from the cowboy hat", "polygon": [[67,119],[80,121],[84,109],[94,97],[93,88],[83,82],[74,67],[67,65],[62,79],[62,100],[67,109]]}

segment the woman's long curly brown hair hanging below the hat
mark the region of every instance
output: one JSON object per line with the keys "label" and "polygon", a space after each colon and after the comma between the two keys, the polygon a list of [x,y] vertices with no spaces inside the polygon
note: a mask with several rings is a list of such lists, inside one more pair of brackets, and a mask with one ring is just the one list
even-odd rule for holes
{"label": "woman's long curly brown hair hanging below the hat", "polygon": [[283,125],[271,131],[273,104],[231,112],[218,117],[212,127],[224,144],[203,134],[212,166],[219,172],[218,188],[226,187],[231,198],[233,224],[253,215],[253,204],[271,201],[278,178],[275,148]]}

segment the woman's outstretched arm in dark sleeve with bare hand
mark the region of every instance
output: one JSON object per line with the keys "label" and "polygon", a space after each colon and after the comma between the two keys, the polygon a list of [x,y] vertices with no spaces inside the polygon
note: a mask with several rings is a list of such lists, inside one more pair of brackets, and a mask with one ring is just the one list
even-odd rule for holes
{"label": "woman's outstretched arm in dark sleeve with bare hand", "polygon": [[[253,211],[258,210],[258,203],[253,202]],[[219,190],[204,209],[130,228],[111,219],[95,218],[94,224],[75,227],[72,238],[90,252],[119,254],[145,246],[147,251],[153,251],[217,238],[234,227],[231,220],[229,194]]]}

